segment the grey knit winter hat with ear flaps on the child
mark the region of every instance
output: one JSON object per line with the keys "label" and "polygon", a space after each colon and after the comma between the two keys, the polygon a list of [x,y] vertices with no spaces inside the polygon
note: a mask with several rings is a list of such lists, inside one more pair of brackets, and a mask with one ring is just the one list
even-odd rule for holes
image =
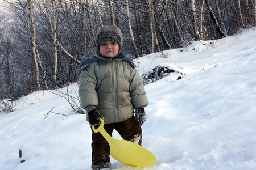
{"label": "grey knit winter hat with ear flaps on the child", "polygon": [[100,45],[102,42],[106,41],[117,42],[119,45],[118,56],[121,53],[123,45],[123,36],[121,30],[114,25],[101,27],[96,35],[96,48],[98,53],[100,53]]}

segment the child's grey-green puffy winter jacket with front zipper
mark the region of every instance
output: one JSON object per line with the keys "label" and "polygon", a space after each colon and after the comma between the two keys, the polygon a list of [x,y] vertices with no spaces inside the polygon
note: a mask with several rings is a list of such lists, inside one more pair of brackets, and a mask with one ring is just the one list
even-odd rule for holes
{"label": "child's grey-green puffy winter jacket with front zipper", "polygon": [[79,97],[87,111],[97,108],[105,124],[121,122],[134,114],[135,108],[148,105],[141,76],[133,60],[122,52],[114,60],[98,52],[81,63]]}

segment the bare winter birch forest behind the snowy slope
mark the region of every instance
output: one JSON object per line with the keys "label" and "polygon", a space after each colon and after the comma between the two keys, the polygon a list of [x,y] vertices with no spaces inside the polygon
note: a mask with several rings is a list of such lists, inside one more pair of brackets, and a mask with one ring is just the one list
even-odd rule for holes
{"label": "bare winter birch forest behind the snowy slope", "polygon": [[256,0],[0,1],[1,102],[77,82],[102,25],[121,28],[133,59],[256,25]]}

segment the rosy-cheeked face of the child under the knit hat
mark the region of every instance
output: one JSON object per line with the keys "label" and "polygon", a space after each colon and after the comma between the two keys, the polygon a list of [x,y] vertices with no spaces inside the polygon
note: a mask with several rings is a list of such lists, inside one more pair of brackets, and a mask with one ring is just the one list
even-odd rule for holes
{"label": "rosy-cheeked face of the child under the knit hat", "polygon": [[118,54],[119,45],[117,42],[106,41],[100,44],[100,53],[104,57],[115,57]]}

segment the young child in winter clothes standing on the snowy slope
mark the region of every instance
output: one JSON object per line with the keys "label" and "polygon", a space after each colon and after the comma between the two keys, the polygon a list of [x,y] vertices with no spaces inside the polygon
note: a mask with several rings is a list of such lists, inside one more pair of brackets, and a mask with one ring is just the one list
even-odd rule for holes
{"label": "young child in winter clothes standing on the snowy slope", "polygon": [[[123,139],[141,145],[148,100],[133,60],[122,53],[122,44],[118,27],[110,25],[98,31],[94,58],[86,59],[80,66],[79,97],[91,126],[97,129],[98,117],[103,118],[109,135],[115,129]],[[92,131],[92,169],[111,168],[109,155],[106,139]]]}

